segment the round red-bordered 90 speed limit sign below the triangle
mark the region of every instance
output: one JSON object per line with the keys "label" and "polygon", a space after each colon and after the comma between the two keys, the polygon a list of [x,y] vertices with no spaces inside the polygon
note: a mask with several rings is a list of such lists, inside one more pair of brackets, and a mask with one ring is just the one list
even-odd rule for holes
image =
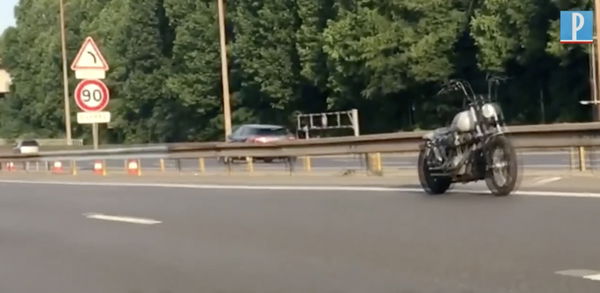
{"label": "round red-bordered 90 speed limit sign below the triangle", "polygon": [[85,112],[98,112],[108,105],[108,87],[100,80],[84,80],[75,88],[75,103]]}

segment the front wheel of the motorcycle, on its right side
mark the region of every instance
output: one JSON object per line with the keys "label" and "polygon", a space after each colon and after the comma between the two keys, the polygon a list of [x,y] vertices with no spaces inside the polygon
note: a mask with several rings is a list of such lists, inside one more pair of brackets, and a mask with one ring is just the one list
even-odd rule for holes
{"label": "front wheel of the motorcycle, on its right side", "polygon": [[517,185],[517,153],[508,138],[496,136],[486,146],[485,183],[496,196],[509,195]]}

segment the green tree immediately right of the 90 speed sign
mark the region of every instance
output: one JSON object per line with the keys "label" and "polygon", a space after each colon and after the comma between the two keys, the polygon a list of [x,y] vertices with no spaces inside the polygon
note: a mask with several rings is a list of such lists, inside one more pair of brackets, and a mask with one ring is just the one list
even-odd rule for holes
{"label": "green tree immediately right of the 90 speed sign", "polygon": [[[111,23],[111,26],[106,26]],[[111,138],[124,142],[168,141],[176,117],[165,89],[172,35],[162,0],[113,0],[87,28],[102,40],[111,65]]]}

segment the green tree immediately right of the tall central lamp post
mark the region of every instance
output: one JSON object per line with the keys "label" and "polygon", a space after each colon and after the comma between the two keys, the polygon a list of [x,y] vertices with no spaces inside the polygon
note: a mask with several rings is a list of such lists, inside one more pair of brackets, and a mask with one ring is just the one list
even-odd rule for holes
{"label": "green tree immediately right of the tall central lamp post", "polygon": [[236,1],[233,22],[240,100],[253,106],[261,120],[286,121],[299,98],[295,1]]}

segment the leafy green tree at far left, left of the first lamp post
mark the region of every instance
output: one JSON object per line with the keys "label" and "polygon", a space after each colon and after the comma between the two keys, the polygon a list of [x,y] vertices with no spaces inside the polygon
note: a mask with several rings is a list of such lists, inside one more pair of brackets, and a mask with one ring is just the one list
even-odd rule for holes
{"label": "leafy green tree at far left, left of the first lamp post", "polygon": [[56,1],[23,0],[16,9],[17,27],[5,32],[1,58],[15,86],[4,120],[20,121],[21,133],[56,136],[64,129],[63,112],[55,108],[62,101],[57,17]]}

